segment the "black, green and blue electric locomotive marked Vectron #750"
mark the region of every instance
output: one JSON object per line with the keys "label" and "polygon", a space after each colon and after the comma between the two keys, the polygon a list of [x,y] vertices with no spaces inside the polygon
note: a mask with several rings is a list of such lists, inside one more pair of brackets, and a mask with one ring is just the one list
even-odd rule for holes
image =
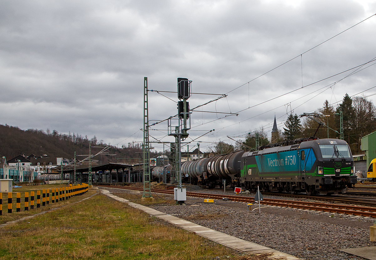
{"label": "black, green and blue electric locomotive marked Vectron #750", "polygon": [[239,182],[250,190],[338,194],[357,182],[354,170],[346,141],[317,139],[245,152]]}

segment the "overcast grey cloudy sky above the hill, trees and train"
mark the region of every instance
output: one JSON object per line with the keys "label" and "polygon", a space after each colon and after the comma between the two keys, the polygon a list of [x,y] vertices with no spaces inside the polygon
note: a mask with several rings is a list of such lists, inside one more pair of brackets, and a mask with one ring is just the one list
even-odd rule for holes
{"label": "overcast grey cloudy sky above the hill, trees and train", "polygon": [[[183,77],[193,93],[227,94],[191,114],[188,141],[215,131],[190,150],[197,141],[201,151],[234,144],[227,136],[259,128],[270,137],[274,116],[282,129],[291,112],[312,112],[326,99],[335,106],[376,86],[374,63],[335,85],[355,69],[323,80],[376,57],[376,16],[308,51],[375,13],[376,2],[351,0],[4,0],[0,124],[96,135],[120,147],[143,141],[144,77],[150,90],[171,92]],[[188,101],[193,108],[217,97]],[[176,101],[176,93],[149,92],[150,124],[177,114]],[[239,115],[218,119],[223,113]],[[167,122],[152,129],[150,140],[174,141]]]}

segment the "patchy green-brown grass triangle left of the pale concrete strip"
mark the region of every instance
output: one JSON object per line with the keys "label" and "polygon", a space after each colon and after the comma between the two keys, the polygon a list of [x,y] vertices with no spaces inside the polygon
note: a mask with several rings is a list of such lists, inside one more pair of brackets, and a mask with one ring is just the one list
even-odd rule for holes
{"label": "patchy green-brown grass triangle left of the pale concrete strip", "polygon": [[[213,259],[234,256],[99,194],[0,229],[0,259]],[[231,258],[227,258],[231,259]]]}

